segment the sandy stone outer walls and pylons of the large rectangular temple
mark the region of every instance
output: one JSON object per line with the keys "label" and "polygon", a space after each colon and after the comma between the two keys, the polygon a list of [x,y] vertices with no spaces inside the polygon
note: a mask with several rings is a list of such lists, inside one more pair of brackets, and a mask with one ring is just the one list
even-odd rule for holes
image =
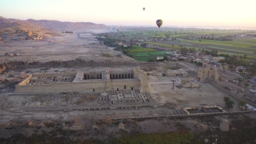
{"label": "sandy stone outer walls and pylons of the large rectangular temple", "polygon": [[[122,73],[122,71],[120,72]],[[129,72],[130,73],[130,72]],[[95,80],[74,80],[64,83],[42,83],[31,85],[30,79],[41,79],[42,77],[53,76],[77,76],[76,73],[58,73],[58,74],[32,74],[27,79],[16,86],[15,93],[57,93],[57,92],[105,92],[105,91],[123,91],[139,90],[149,92],[147,75],[143,70],[134,68],[133,79],[110,79],[108,68],[104,77],[106,79]],[[39,78],[40,77],[40,78]]]}

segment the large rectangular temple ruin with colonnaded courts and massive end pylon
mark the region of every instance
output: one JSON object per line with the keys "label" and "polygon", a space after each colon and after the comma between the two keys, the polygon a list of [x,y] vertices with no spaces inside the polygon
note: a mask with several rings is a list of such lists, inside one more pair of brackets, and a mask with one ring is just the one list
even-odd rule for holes
{"label": "large rectangular temple ruin with colonnaded courts and massive end pylon", "polygon": [[103,93],[128,90],[149,92],[147,75],[138,67],[130,71],[106,68],[106,71],[31,74],[16,86],[15,93]]}

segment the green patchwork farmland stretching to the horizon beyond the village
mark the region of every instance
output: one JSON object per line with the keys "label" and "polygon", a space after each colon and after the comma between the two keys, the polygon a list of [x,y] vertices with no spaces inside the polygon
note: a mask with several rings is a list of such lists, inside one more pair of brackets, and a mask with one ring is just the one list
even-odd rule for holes
{"label": "green patchwork farmland stretching to the horizon beyond the village", "polygon": [[[229,55],[247,55],[246,61],[256,61],[256,31],[253,30],[218,30],[218,29],[198,29],[198,28],[132,28],[122,30],[123,38],[127,42],[130,39],[139,40],[141,43],[152,44],[156,47],[166,49],[195,48],[196,51],[204,49],[208,51],[217,50],[218,53]],[[250,36],[247,36],[249,34]],[[116,33],[116,37],[120,34]],[[153,37],[170,37],[167,40],[150,42]],[[204,39],[199,39],[204,37]],[[229,41],[221,41],[223,37],[229,38]],[[174,39],[176,38],[176,39]],[[216,40],[209,40],[210,38]],[[189,40],[183,40],[189,39]],[[146,42],[144,42],[146,40]],[[174,45],[174,46],[173,46]],[[136,53],[134,53],[136,52]],[[138,48],[129,50],[129,54],[137,60],[146,61],[146,57],[163,56],[158,54],[149,55],[144,52],[157,52],[155,49]]]}

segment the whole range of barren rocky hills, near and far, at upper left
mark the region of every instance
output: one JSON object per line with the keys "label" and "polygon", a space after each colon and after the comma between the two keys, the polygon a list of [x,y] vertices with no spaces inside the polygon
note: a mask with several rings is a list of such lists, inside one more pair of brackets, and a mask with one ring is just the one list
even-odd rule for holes
{"label": "whole range of barren rocky hills, near and far, at upper left", "polygon": [[92,22],[60,22],[54,20],[20,20],[0,16],[0,43],[6,40],[37,40],[54,36],[51,29],[77,30],[107,28]]}

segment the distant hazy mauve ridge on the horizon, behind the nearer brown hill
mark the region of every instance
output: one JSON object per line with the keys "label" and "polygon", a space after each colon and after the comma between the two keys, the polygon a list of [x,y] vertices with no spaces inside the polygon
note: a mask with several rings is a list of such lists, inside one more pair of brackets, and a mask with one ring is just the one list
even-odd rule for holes
{"label": "distant hazy mauve ridge on the horizon, behind the nearer brown hill", "polygon": [[79,29],[79,28],[107,28],[104,24],[94,24],[92,22],[61,22],[54,20],[34,20],[28,19],[27,22],[40,24],[43,27],[52,29]]}

